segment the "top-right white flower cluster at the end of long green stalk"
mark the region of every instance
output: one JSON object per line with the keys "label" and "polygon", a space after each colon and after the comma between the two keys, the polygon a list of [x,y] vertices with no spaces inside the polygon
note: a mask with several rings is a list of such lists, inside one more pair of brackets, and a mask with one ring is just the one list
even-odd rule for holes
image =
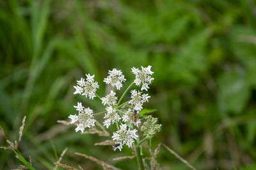
{"label": "top-right white flower cluster at the end of long green stalk", "polygon": [[141,70],[137,69],[135,67],[132,67],[132,73],[135,74],[135,80],[134,83],[136,83],[136,85],[141,86],[141,90],[148,90],[149,87],[148,85],[151,84],[152,80],[154,80],[154,78],[151,77],[151,75],[154,73],[151,70],[151,66],[148,67],[142,67],[141,66]]}

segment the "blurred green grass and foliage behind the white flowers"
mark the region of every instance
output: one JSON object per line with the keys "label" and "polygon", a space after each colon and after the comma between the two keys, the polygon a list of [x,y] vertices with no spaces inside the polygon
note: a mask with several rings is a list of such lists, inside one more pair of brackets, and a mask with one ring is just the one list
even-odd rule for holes
{"label": "blurred green grass and foliage behind the white flowers", "polygon": [[[108,69],[152,65],[148,109],[157,109],[163,131],[152,140],[173,148],[197,169],[256,169],[256,5],[243,1],[0,1],[0,125],[17,139],[24,115],[22,155],[36,169],[61,162],[101,169],[74,155],[86,153],[121,169],[136,169],[131,155],[108,138],[74,132],[57,120],[76,113],[83,101],[102,111],[97,99],[74,96],[85,73],[95,74],[104,96]],[[120,94],[122,92],[120,91]],[[127,98],[128,99],[128,98]],[[0,145],[6,146],[3,138]],[[157,160],[163,169],[188,169],[166,149]],[[22,164],[0,150],[0,169]]]}

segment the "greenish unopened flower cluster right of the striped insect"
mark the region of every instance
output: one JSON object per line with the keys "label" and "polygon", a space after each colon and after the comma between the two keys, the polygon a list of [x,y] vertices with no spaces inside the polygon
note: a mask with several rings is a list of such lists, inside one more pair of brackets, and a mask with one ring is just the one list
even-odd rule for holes
{"label": "greenish unopened flower cluster right of the striped insect", "polygon": [[156,134],[156,132],[161,131],[161,124],[157,124],[158,119],[157,118],[153,118],[151,115],[145,117],[145,122],[144,124],[141,126],[141,132],[143,132],[143,136],[145,138],[153,138],[154,135]]}

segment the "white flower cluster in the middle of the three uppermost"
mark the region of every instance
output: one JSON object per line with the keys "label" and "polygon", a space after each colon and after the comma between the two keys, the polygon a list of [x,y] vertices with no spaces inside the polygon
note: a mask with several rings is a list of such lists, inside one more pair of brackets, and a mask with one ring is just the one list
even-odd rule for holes
{"label": "white flower cluster in the middle of the three uppermost", "polygon": [[104,82],[108,85],[109,83],[116,87],[117,90],[120,90],[120,88],[123,86],[122,82],[126,79],[124,78],[124,75],[121,70],[113,69],[112,71],[108,71],[109,76],[107,78],[104,78]]}

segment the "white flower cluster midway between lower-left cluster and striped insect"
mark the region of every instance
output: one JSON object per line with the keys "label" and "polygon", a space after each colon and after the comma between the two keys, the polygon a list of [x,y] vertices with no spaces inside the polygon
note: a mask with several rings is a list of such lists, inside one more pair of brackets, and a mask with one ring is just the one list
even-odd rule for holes
{"label": "white flower cluster midway between lower-left cluster and striped insect", "polygon": [[108,128],[111,122],[112,124],[114,124],[115,122],[118,122],[121,118],[118,115],[116,109],[113,109],[112,106],[107,107],[106,110],[108,111],[108,113],[105,114],[104,118],[106,118],[106,120],[103,122],[103,125]]}

